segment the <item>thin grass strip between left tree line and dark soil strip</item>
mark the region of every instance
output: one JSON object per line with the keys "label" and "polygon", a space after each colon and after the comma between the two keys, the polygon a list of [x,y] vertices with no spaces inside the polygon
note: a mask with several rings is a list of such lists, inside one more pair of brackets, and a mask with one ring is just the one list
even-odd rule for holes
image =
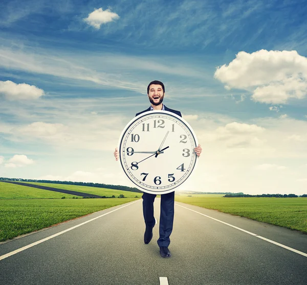
{"label": "thin grass strip between left tree line and dark soil strip", "polygon": [[79,186],[79,185],[56,184],[56,183],[24,182],[24,181],[23,183],[30,183],[30,184],[43,185],[43,186],[53,187],[53,188],[58,188],[58,189],[79,191],[83,193],[89,193],[89,194],[106,196],[106,197],[112,197],[112,195],[114,195],[117,198],[120,194],[123,194],[126,198],[135,198],[136,196],[138,197],[142,196],[142,193],[137,193],[137,192],[114,190],[114,189],[91,187],[91,186]]}

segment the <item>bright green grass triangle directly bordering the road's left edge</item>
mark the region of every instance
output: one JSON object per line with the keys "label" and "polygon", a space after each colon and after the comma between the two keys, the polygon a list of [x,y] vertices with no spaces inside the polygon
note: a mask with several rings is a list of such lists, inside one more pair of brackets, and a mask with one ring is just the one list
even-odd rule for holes
{"label": "bright green grass triangle directly bordering the road's left edge", "polygon": [[137,198],[1,200],[0,242],[134,200]]}

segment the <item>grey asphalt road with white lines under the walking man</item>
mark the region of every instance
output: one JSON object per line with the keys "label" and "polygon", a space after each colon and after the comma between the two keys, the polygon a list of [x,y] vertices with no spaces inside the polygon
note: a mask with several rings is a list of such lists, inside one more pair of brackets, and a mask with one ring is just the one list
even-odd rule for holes
{"label": "grey asphalt road with white lines under the walking man", "polygon": [[[157,198],[158,222],[159,208]],[[138,200],[3,243],[0,284],[307,284],[306,234],[176,202],[172,257],[162,258],[159,224],[148,245],[144,229]]]}

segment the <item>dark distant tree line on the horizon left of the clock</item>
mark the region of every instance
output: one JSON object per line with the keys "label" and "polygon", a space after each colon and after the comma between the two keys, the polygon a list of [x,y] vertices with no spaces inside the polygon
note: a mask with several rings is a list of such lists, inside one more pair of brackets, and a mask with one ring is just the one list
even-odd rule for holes
{"label": "dark distant tree line on the horizon left of the clock", "polygon": [[35,179],[0,177],[0,181],[1,180],[3,180],[3,181],[26,181],[26,182],[41,182],[41,183],[55,183],[55,184],[70,184],[70,185],[91,186],[91,187],[99,187],[99,188],[107,188],[107,189],[115,189],[115,190],[123,190],[123,191],[143,193],[141,190],[139,190],[136,187],[103,184],[103,183],[93,183],[93,182],[73,182],[73,181],[59,181],[59,180],[53,181],[53,180],[35,180]]}

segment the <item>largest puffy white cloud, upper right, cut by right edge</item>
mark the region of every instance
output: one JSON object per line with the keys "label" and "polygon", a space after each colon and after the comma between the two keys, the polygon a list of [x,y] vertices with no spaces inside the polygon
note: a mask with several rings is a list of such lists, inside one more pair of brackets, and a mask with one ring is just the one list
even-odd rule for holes
{"label": "largest puffy white cloud, upper right, cut by right edge", "polygon": [[296,51],[239,52],[228,65],[217,67],[214,77],[226,89],[252,90],[257,102],[280,104],[307,93],[307,58]]}

